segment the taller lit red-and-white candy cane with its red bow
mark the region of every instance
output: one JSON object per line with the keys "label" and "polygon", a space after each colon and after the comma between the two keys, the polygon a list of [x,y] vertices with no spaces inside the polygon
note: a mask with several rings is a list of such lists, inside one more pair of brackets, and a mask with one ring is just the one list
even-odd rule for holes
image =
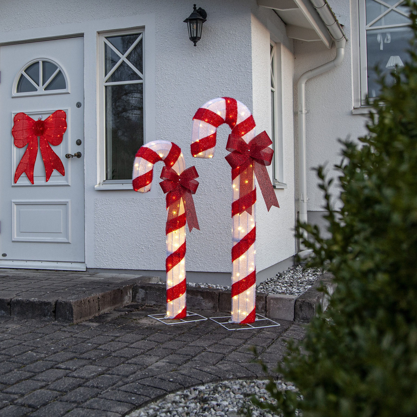
{"label": "taller lit red-and-white candy cane with its red bow", "polygon": [[266,206],[279,207],[265,165],[272,161],[272,143],[266,132],[255,136],[255,121],[249,109],[230,97],[216,98],[199,108],[193,117],[191,154],[212,158],[217,128],[226,123],[232,129],[226,160],[232,167],[232,311],[234,323],[255,321],[255,202],[258,180]]}

